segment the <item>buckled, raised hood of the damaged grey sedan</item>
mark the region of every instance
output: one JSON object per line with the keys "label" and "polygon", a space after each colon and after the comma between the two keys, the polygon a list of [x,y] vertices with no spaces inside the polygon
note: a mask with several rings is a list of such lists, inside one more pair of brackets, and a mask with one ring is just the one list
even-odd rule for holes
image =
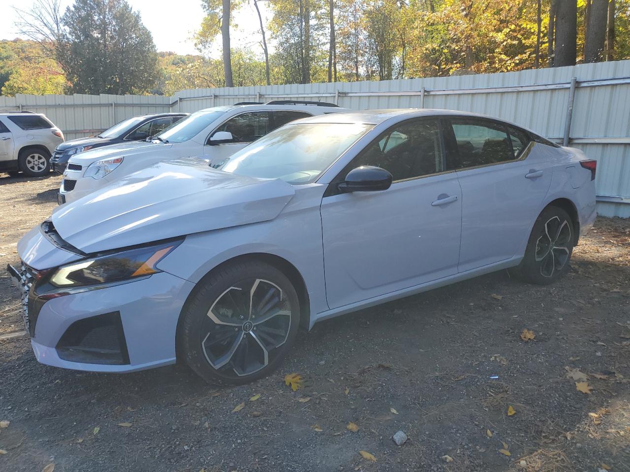
{"label": "buckled, raised hood of the damaged grey sedan", "polygon": [[186,157],[58,206],[52,222],[67,243],[93,253],[272,220],[294,194],[280,179],[237,176]]}

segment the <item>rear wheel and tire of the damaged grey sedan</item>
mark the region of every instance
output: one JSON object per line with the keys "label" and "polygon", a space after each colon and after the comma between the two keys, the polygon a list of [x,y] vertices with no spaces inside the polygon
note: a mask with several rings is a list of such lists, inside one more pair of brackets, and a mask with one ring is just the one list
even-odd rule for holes
{"label": "rear wheel and tire of the damaged grey sedan", "polygon": [[510,273],[534,284],[553,283],[570,267],[574,231],[566,211],[557,206],[547,206],[536,218],[523,260],[518,267],[510,269]]}

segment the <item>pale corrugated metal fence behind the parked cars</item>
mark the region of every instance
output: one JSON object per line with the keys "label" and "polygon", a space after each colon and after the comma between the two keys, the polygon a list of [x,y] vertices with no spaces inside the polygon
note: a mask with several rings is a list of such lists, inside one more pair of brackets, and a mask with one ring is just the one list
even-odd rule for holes
{"label": "pale corrugated metal fence behind the parked cars", "polygon": [[427,79],[194,89],[173,97],[18,95],[0,97],[0,109],[21,105],[45,113],[72,139],[130,116],[192,112],[238,101],[328,101],[353,110],[423,106],[496,116],[562,142],[573,77],[570,145],[599,161],[600,213],[630,217],[630,60]]}

